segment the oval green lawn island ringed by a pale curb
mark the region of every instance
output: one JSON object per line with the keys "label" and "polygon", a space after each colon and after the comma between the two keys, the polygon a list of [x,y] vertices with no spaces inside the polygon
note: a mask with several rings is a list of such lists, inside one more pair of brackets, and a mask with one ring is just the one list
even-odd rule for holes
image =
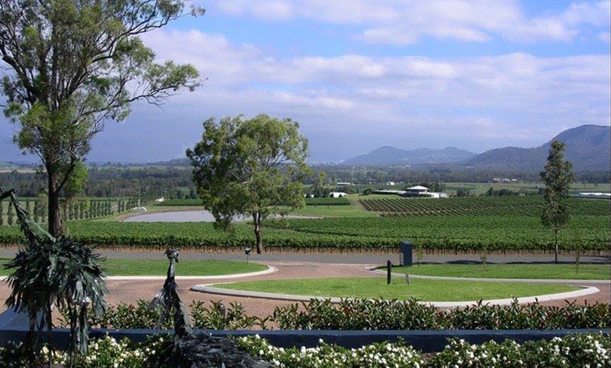
{"label": "oval green lawn island ringed by a pale curb", "polygon": [[402,277],[395,277],[390,285],[386,284],[386,277],[369,277],[265,280],[218,284],[215,287],[329,298],[386,298],[398,300],[417,298],[422,301],[478,301],[480,299],[490,300],[512,296],[556,294],[579,289],[579,287],[558,284],[443,280],[412,280],[410,284],[406,284]]}

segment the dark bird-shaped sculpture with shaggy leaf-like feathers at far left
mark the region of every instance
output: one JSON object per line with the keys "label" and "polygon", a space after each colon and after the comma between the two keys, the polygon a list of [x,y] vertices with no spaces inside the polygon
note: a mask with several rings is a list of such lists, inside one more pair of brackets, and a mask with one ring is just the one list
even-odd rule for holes
{"label": "dark bird-shaped sculpture with shaggy leaf-like feathers at far left", "polygon": [[[88,310],[101,315],[107,306],[105,275],[99,265],[103,258],[70,237],[52,237],[27,219],[27,213],[12,190],[4,192],[0,188],[0,192],[0,199],[11,197],[28,240],[15,258],[6,264],[6,268],[13,270],[8,276],[13,291],[6,299],[6,306],[29,315],[25,346],[33,351],[37,343],[37,339],[32,339],[34,329],[39,333],[46,329],[48,342],[53,347],[52,307],[56,305],[69,311],[71,355],[77,346],[79,353],[86,355]],[[38,232],[32,230],[34,226]]]}

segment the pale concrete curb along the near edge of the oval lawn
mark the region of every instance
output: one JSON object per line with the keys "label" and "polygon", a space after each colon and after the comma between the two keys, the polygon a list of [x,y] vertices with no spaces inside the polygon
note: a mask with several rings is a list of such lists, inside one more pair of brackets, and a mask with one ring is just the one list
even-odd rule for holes
{"label": "pale concrete curb along the near edge of the oval lawn", "polygon": [[[218,285],[218,284],[216,284]],[[583,287],[582,290],[577,291],[567,291],[566,293],[559,294],[548,294],[548,295],[539,295],[539,296],[525,296],[523,298],[517,298],[519,304],[526,303],[534,303],[535,301],[554,301],[558,299],[567,299],[567,298],[576,298],[577,296],[584,296],[595,294],[600,291],[596,287]],[[218,287],[213,287],[209,285],[195,285],[191,287],[192,291],[198,291],[202,293],[208,294],[218,294],[218,295],[227,295],[227,296],[242,296],[248,298],[265,298],[265,299],[274,299],[281,301],[310,301],[311,299],[317,300],[327,300],[329,299],[331,303],[340,303],[343,299],[348,298],[328,298],[324,296],[303,296],[303,295],[290,295],[290,294],[273,294],[273,293],[264,293],[261,291],[244,291],[244,290],[230,290],[230,289],[222,289]],[[482,301],[483,304],[492,304],[492,305],[510,305],[513,303],[513,298],[504,298],[504,299],[494,299],[489,301]],[[455,308],[455,307],[467,307],[469,305],[478,304],[479,301],[419,301],[421,304],[432,305],[437,308]]]}

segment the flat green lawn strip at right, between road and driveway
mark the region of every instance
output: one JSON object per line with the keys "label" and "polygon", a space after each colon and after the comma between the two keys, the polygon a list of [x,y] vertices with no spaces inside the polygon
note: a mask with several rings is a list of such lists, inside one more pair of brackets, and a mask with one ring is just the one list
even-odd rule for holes
{"label": "flat green lawn strip at right, between road and driveway", "polygon": [[412,265],[393,267],[393,272],[409,275],[447,277],[489,277],[493,279],[610,280],[611,265],[487,264]]}

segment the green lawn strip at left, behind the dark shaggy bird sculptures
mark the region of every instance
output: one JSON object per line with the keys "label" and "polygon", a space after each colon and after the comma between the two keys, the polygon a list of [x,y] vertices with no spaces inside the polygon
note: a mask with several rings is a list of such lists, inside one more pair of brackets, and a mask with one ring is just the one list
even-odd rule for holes
{"label": "green lawn strip at left, behind the dark shaggy bird sculptures", "polygon": [[[9,270],[4,268],[8,258],[0,258],[0,275],[9,275]],[[104,262],[106,275],[108,276],[165,276],[168,272],[169,262],[153,260],[125,260],[107,259]],[[256,272],[267,270],[265,265],[254,262],[242,261],[178,261],[176,265],[176,276],[216,276],[234,275],[244,272]]]}

